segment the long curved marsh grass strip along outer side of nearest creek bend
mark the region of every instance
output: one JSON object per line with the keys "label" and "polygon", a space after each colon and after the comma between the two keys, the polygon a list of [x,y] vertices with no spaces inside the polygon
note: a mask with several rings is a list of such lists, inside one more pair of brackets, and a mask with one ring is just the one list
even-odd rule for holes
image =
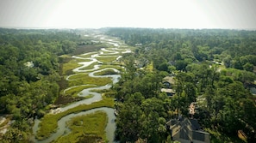
{"label": "long curved marsh grass strip along outer side of nearest creek bend", "polygon": [[41,119],[40,128],[37,131],[36,138],[38,140],[44,140],[47,139],[52,133],[56,132],[56,129],[58,128],[58,121],[63,116],[99,107],[114,108],[114,100],[112,98],[103,98],[103,100],[95,102],[93,104],[81,104],[75,108],[66,110],[59,114],[47,114]]}

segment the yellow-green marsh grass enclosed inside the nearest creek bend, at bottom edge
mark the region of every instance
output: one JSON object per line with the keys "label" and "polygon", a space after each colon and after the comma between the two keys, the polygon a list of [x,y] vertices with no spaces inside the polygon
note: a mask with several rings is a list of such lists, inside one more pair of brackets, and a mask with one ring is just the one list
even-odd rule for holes
{"label": "yellow-green marsh grass enclosed inside the nearest creek bend, at bottom edge", "polygon": [[[97,111],[95,113],[85,116],[73,117],[72,120],[67,122],[67,127],[70,128],[72,132],[70,134],[60,137],[55,142],[78,142],[83,139],[83,136],[85,134],[96,135],[98,137],[97,140],[107,140],[104,130],[107,125],[107,122],[108,116],[103,111]],[[96,140],[94,140],[93,142],[95,141]]]}

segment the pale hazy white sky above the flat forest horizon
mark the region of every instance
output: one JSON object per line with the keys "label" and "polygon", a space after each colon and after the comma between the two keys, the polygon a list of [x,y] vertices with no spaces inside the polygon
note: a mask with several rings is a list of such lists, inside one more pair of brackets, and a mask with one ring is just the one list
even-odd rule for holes
{"label": "pale hazy white sky above the flat forest horizon", "polygon": [[256,28],[256,0],[0,0],[0,27]]}

